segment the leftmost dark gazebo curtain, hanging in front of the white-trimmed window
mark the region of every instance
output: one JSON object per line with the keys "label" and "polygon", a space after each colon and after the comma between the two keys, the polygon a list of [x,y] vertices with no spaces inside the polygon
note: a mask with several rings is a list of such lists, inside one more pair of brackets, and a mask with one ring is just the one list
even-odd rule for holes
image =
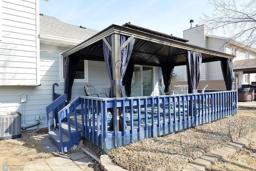
{"label": "leftmost dark gazebo curtain, hanging in front of the white-trimmed window", "polygon": [[66,67],[65,67],[65,84],[64,93],[67,95],[67,100],[70,101],[72,95],[72,85],[76,76],[76,70],[79,63],[79,58],[70,56],[67,57]]}

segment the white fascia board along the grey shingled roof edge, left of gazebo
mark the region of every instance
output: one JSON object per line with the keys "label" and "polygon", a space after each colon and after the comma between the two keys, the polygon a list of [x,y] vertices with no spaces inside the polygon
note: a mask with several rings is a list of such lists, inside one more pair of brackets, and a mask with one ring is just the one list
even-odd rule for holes
{"label": "white fascia board along the grey shingled roof edge, left of gazebo", "polygon": [[56,42],[56,43],[70,44],[70,45],[77,45],[83,41],[83,40],[68,39],[68,38],[63,38],[58,36],[51,36],[47,34],[40,34],[40,40],[47,40],[49,42]]}

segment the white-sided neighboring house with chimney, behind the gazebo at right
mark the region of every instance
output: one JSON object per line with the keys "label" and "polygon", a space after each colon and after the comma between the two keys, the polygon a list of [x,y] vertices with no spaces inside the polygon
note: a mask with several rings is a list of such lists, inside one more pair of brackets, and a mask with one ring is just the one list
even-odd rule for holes
{"label": "white-sided neighboring house with chimney, behind the gazebo at right", "polygon": [[[238,63],[236,62],[238,60],[256,58],[256,49],[243,44],[241,45],[239,42],[230,40],[229,38],[208,35],[206,25],[196,25],[188,30],[184,30],[183,38],[189,40],[188,44],[236,55],[233,60],[234,64]],[[246,67],[247,64],[244,63],[244,68]],[[177,76],[173,77],[173,82],[187,80],[186,66],[175,67],[174,73],[177,74]],[[256,81],[256,74],[242,72],[241,70],[238,71],[235,66],[234,76],[238,79],[238,88],[242,87],[242,84],[251,84],[251,82]],[[202,64],[200,80],[223,80],[220,61]]]}

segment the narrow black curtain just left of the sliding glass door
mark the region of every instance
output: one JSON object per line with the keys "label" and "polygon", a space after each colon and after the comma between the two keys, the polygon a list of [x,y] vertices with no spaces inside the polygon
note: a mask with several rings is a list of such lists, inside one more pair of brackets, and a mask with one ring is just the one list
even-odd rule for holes
{"label": "narrow black curtain just left of the sliding glass door", "polygon": [[133,70],[134,70],[134,64],[131,64],[129,62],[123,78],[123,85],[125,87],[127,97],[131,97]]}

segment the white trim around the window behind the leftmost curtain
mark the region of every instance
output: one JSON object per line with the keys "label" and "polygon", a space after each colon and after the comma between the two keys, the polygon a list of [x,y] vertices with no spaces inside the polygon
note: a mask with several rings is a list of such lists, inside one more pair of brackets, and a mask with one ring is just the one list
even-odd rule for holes
{"label": "white trim around the window behind the leftmost curtain", "polygon": [[[64,80],[64,57],[60,53],[60,82]],[[75,79],[74,83],[88,83],[88,60],[84,60],[84,79]]]}

